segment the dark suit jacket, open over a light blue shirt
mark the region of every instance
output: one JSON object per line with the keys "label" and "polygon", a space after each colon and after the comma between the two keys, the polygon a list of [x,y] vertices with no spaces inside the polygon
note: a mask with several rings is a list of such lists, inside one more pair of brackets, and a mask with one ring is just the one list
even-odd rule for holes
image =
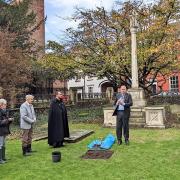
{"label": "dark suit jacket, open over a light blue shirt", "polygon": [[[114,105],[115,105],[115,110],[113,112],[113,116],[116,116],[117,115],[117,111],[118,111],[118,107],[119,105],[116,105],[116,102],[122,97],[122,94],[121,93],[117,93],[116,95],[116,100],[114,102]],[[133,105],[133,102],[132,102],[132,97],[131,97],[131,94],[129,93],[125,93],[124,94],[124,112],[125,114],[127,115],[127,118],[129,118],[130,116],[130,106]]]}

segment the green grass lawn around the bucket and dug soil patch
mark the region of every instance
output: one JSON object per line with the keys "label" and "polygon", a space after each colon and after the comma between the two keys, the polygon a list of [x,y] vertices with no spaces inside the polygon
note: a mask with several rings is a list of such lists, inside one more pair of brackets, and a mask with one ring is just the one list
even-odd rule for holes
{"label": "green grass lawn around the bucket and dug soil patch", "polygon": [[[93,129],[94,134],[84,140],[66,144],[58,150],[62,161],[53,163],[54,150],[47,141],[33,142],[38,152],[30,157],[21,154],[18,140],[7,141],[7,155],[10,158],[0,165],[0,180],[121,180],[121,179],[180,179],[180,130],[131,129],[130,145],[114,144],[113,156],[108,160],[84,160],[80,156],[87,151],[87,144],[103,138],[115,129],[98,125],[71,124],[74,129]],[[57,150],[57,149],[56,149]]]}

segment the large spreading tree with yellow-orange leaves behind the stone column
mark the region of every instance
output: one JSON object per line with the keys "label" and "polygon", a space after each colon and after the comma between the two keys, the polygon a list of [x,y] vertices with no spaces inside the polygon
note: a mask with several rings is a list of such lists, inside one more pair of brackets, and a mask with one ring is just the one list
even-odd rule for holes
{"label": "large spreading tree with yellow-orange leaves behind the stone column", "polygon": [[[177,61],[177,24],[179,0],[118,3],[110,12],[78,9],[73,19],[77,29],[67,29],[71,55],[86,73],[107,77],[116,89],[119,83],[131,86],[130,18],[136,11],[138,21],[139,85],[147,93],[156,77],[179,68]],[[77,61],[78,60],[78,61]]]}

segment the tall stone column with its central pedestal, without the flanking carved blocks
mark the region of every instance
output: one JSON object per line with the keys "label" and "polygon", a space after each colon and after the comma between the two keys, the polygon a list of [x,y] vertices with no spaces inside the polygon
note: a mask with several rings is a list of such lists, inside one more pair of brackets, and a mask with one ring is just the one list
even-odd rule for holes
{"label": "tall stone column with its central pedestal, without the flanking carved blocks", "polygon": [[132,95],[132,99],[133,99],[130,125],[136,127],[144,127],[145,125],[144,107],[146,105],[146,100],[144,98],[144,90],[139,87],[139,81],[138,81],[137,41],[136,41],[138,24],[137,24],[136,16],[137,16],[136,12],[133,11],[130,19],[132,86],[131,89],[129,89],[128,91]]}

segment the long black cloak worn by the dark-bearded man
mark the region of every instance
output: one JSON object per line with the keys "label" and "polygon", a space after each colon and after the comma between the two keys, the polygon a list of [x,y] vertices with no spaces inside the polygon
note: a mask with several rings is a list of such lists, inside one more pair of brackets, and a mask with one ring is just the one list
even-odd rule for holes
{"label": "long black cloak worn by the dark-bearded man", "polygon": [[48,144],[62,142],[65,137],[69,137],[67,110],[62,101],[54,99],[48,117]]}

